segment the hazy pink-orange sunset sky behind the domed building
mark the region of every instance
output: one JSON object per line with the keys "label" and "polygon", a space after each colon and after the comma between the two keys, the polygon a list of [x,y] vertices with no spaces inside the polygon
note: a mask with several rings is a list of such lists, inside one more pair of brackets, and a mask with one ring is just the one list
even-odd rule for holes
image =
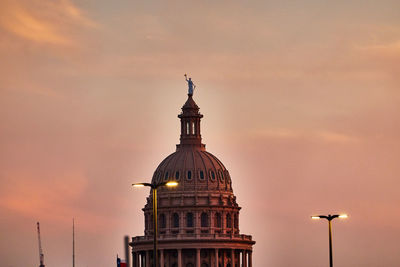
{"label": "hazy pink-orange sunset sky behind the domed building", "polygon": [[256,267],[400,265],[400,2],[0,0],[1,267],[115,265],[188,73]]}

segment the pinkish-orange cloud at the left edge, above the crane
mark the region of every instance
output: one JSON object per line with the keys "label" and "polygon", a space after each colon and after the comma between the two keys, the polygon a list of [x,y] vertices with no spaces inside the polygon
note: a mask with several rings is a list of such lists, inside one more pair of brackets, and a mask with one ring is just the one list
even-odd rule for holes
{"label": "pinkish-orange cloud at the left edge, above the crane", "polygon": [[81,213],[71,206],[84,195],[88,180],[80,173],[58,174],[57,179],[38,181],[30,172],[2,174],[0,207],[24,217],[41,217],[53,221]]}

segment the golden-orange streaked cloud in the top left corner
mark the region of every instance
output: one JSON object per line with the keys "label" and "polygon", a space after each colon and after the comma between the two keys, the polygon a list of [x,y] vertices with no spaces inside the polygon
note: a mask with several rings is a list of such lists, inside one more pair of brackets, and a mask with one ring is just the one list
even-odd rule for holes
{"label": "golden-orange streaked cloud in the top left corner", "polygon": [[6,0],[1,5],[0,28],[35,43],[71,45],[75,28],[96,26],[68,0]]}

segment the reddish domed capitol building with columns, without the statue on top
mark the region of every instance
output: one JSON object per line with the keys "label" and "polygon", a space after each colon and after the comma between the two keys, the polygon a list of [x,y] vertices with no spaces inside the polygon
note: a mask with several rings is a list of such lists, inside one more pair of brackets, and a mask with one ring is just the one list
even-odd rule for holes
{"label": "reddish domed capitol building with columns, without the statue on top", "polygon": [[[180,144],[158,165],[151,181],[178,182],[157,189],[159,266],[252,267],[255,241],[240,233],[241,207],[228,170],[201,143],[203,115],[192,92],[178,117]],[[130,244],[134,267],[153,266],[152,194],[143,208],[144,236],[133,237]]]}

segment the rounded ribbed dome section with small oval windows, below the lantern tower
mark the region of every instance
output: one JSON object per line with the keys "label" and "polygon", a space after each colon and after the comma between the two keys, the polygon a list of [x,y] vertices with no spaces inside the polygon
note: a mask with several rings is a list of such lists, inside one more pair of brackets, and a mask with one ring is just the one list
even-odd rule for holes
{"label": "rounded ribbed dome section with small oval windows, below the lantern tower", "polygon": [[213,154],[201,149],[179,149],[165,158],[154,172],[152,183],[176,180],[177,190],[231,191],[229,172]]}

